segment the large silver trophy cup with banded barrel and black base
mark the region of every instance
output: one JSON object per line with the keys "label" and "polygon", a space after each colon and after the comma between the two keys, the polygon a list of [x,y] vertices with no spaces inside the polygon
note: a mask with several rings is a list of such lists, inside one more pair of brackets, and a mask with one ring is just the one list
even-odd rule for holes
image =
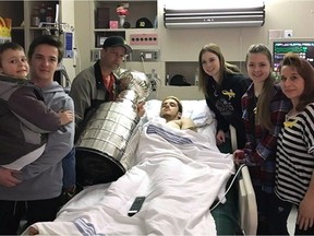
{"label": "large silver trophy cup with banded barrel and black base", "polygon": [[149,95],[152,84],[138,71],[126,70],[119,78],[124,86],[119,98],[99,105],[76,142],[76,178],[82,186],[114,181],[125,173],[120,160],[140,120],[136,105]]}

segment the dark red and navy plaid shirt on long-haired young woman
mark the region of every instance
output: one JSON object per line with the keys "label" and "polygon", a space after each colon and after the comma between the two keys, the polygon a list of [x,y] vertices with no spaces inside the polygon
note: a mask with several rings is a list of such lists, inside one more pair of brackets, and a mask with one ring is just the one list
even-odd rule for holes
{"label": "dark red and navy plaid shirt on long-haired young woman", "polygon": [[271,130],[263,129],[254,121],[254,108],[257,99],[253,84],[242,97],[243,121],[246,133],[244,163],[249,166],[254,186],[261,186],[265,192],[274,192],[277,137],[283,126],[287,113],[291,108],[288,99],[278,85],[270,101]]}

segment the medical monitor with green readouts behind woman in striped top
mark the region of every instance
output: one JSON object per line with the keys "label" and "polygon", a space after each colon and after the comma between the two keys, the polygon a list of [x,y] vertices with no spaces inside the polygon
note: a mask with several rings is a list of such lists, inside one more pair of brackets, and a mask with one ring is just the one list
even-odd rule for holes
{"label": "medical monitor with green readouts behind woman in striped top", "polygon": [[314,38],[277,38],[270,42],[270,47],[275,72],[278,72],[278,67],[288,52],[306,59],[314,68]]}

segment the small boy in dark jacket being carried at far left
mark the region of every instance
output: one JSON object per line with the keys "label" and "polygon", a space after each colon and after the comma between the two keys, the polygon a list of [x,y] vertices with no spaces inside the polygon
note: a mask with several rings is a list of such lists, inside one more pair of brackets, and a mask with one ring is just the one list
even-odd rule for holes
{"label": "small boy in dark jacket being carried at far left", "polygon": [[47,133],[73,121],[71,111],[55,113],[43,93],[26,76],[29,66],[22,46],[0,45],[0,165],[22,169],[38,158]]}

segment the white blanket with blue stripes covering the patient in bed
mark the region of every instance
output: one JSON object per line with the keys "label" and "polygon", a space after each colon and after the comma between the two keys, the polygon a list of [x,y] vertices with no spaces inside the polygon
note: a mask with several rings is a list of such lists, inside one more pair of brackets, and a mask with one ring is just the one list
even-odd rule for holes
{"label": "white blanket with blue stripes covering the patient in bed", "polygon": [[[216,235],[209,206],[233,173],[231,155],[196,132],[152,121],[136,156],[140,163],[108,188],[85,189],[55,222],[33,226],[40,235]],[[146,200],[130,217],[137,196]]]}

